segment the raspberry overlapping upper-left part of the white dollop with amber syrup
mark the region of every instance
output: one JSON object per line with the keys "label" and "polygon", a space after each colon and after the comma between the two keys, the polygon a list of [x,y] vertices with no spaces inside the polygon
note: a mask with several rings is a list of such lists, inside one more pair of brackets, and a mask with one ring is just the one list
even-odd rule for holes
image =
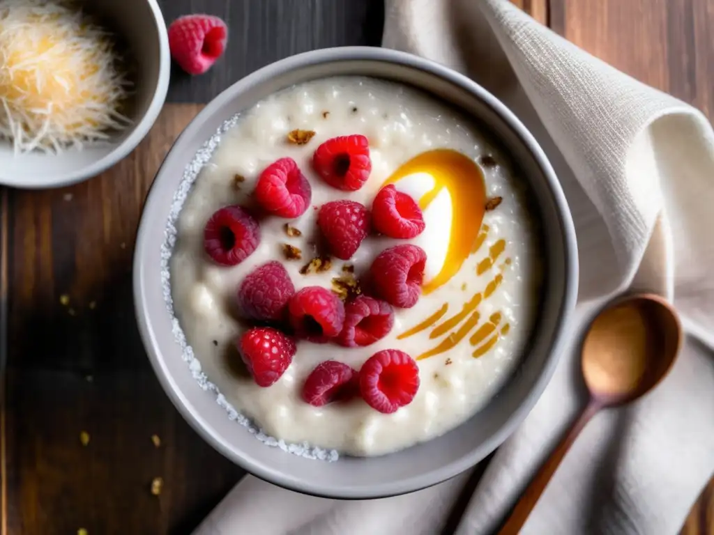
{"label": "raspberry overlapping upper-left part of the white dollop with amber syrup", "polygon": [[426,227],[421,208],[406,193],[386,185],[372,203],[374,230],[390,238],[414,238]]}

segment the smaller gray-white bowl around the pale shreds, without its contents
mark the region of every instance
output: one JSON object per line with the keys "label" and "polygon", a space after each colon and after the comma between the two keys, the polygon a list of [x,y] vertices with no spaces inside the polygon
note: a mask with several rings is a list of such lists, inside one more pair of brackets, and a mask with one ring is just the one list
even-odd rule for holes
{"label": "smaller gray-white bowl around the pale shreds, without its contents", "polygon": [[144,139],[166,100],[171,73],[169,37],[156,0],[102,0],[92,9],[112,21],[136,61],[133,124],[108,143],[67,150],[59,155],[28,153],[14,156],[11,143],[0,141],[0,184],[14,188],[54,188],[99,175],[126,157]]}

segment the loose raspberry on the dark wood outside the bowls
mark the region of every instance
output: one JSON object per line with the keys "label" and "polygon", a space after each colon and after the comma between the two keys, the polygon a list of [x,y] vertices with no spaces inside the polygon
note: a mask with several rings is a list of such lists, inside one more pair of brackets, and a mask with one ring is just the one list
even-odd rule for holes
{"label": "loose raspberry on the dark wood outside the bowls", "polygon": [[228,41],[226,23],[213,15],[180,16],[169,26],[169,49],[188,74],[203,74],[221,57]]}

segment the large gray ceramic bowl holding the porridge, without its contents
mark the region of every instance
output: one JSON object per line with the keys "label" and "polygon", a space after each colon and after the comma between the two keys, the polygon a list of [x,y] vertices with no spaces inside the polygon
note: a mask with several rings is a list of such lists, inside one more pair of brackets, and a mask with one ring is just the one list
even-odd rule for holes
{"label": "large gray ceramic bowl holding the porridge, without its contents", "polygon": [[[162,293],[159,265],[166,221],[186,166],[221,123],[271,93],[296,83],[363,75],[408,83],[463,108],[501,141],[531,184],[543,225],[546,291],[528,355],[488,405],[457,429],[383,457],[304,459],[266,447],[229,421],[191,377],[181,359]],[[468,78],[422,58],[387,49],[308,52],[262,68],[198,114],[166,157],[141,219],[134,256],[134,298],[141,336],[161,384],[188,422],[213,447],[248,472],[288,489],[333,498],[403,494],[463,472],[493,452],[526,417],[553,373],[564,326],[575,304],[578,265],[575,232],[558,179],[526,128],[490,93]]]}

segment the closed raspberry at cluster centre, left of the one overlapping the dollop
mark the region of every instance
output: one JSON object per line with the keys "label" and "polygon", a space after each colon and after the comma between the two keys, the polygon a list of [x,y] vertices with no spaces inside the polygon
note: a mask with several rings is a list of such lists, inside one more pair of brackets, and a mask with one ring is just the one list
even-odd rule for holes
{"label": "closed raspberry at cluster centre, left of the one overlapping the dollop", "polygon": [[349,260],[369,234],[369,212],[353,200],[333,200],[321,206],[317,224],[330,253]]}

